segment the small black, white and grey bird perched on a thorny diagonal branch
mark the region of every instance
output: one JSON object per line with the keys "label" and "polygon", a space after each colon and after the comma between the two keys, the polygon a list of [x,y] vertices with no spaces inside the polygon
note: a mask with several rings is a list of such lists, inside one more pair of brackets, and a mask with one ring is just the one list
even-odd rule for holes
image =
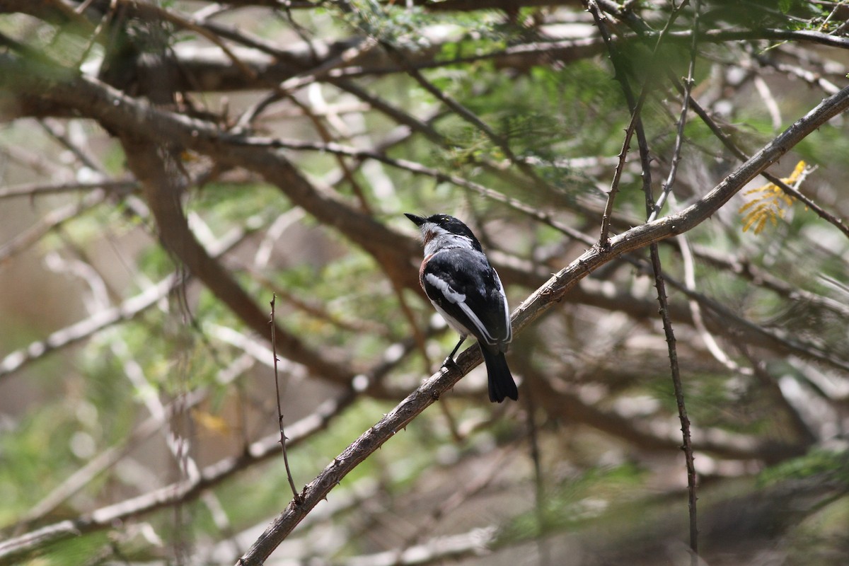
{"label": "small black, white and grey bird perched on a thorny diagonal branch", "polygon": [[489,400],[519,400],[519,389],[504,353],[513,339],[507,296],[498,272],[489,264],[481,243],[462,221],[446,214],[424,218],[404,213],[419,227],[424,260],[419,282],[436,311],[459,335],[460,341],[443,362],[454,365],[471,334],[481,348],[489,382]]}

